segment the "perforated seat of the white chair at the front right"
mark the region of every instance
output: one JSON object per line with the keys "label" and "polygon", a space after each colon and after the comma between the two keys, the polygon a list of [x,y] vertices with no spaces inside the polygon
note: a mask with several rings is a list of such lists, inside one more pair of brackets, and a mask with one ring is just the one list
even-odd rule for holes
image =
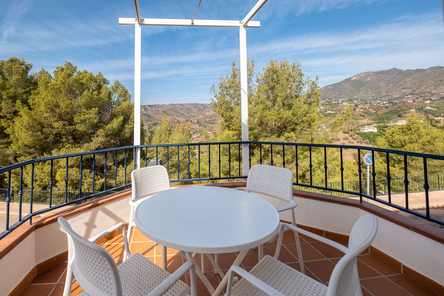
{"label": "perforated seat of the white chair at the front right", "polygon": [[[259,261],[259,263],[250,270],[250,273],[284,295],[327,295],[327,286],[268,255]],[[264,292],[245,279],[239,280],[238,283],[233,286],[232,295],[266,296]]]}

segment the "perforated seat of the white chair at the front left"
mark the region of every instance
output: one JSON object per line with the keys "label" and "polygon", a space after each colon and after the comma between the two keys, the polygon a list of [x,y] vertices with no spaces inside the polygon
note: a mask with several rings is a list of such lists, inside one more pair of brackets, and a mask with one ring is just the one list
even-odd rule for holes
{"label": "perforated seat of the white chair at the front left", "polygon": [[[123,295],[125,296],[148,295],[170,276],[169,272],[166,272],[140,253],[135,253],[117,268],[119,269]],[[164,295],[181,296],[189,293],[190,287],[178,280]],[[87,296],[88,294],[83,292],[79,295]]]}

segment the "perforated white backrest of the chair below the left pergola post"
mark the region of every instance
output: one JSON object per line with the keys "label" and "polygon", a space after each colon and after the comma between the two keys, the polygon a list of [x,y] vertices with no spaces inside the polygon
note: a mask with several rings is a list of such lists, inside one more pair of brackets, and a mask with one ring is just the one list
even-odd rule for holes
{"label": "perforated white backrest of the chair below the left pergola post", "polygon": [[170,178],[165,166],[147,166],[131,172],[133,201],[170,189]]}

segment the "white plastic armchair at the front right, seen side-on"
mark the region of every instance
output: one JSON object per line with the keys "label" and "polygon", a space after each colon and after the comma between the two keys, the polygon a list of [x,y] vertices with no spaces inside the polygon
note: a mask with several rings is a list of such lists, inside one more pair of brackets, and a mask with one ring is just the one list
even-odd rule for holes
{"label": "white plastic armchair at the front right, seen side-on", "polygon": [[[328,287],[277,260],[284,228],[312,237],[345,253],[330,276]],[[250,272],[238,265],[230,268],[226,296],[362,296],[356,257],[373,242],[378,231],[377,218],[361,216],[353,225],[349,245],[345,247],[293,225],[281,223],[279,241],[274,257],[265,256]],[[234,273],[242,279],[233,286]]]}

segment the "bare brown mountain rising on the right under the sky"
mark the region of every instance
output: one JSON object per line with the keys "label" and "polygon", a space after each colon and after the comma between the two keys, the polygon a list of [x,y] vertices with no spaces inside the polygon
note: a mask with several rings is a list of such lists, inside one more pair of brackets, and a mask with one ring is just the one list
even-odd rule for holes
{"label": "bare brown mountain rising on the right under the sky", "polygon": [[[419,99],[444,94],[444,67],[367,71],[321,88],[323,99]],[[430,96],[429,96],[430,98]],[[433,98],[433,97],[432,97]]]}

